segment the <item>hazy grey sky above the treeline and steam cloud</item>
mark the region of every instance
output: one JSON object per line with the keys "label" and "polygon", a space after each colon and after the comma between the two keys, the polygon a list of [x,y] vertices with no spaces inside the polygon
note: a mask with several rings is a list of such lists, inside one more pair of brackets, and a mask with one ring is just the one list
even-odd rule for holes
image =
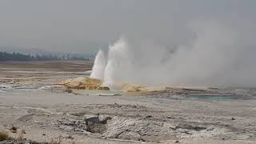
{"label": "hazy grey sky above the treeline and steam cloud", "polygon": [[2,0],[0,46],[94,52],[120,36],[173,46],[192,37],[190,23],[209,19],[254,38],[255,7],[255,0]]}

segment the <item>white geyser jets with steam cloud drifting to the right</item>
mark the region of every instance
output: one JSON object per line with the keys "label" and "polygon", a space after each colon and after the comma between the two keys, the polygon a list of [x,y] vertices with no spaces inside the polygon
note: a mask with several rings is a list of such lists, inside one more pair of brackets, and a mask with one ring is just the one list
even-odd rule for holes
{"label": "white geyser jets with steam cloud drifting to the right", "polygon": [[191,26],[194,38],[166,47],[120,38],[96,56],[91,77],[119,89],[123,83],[146,86],[256,86],[256,50],[237,30],[214,23]]}

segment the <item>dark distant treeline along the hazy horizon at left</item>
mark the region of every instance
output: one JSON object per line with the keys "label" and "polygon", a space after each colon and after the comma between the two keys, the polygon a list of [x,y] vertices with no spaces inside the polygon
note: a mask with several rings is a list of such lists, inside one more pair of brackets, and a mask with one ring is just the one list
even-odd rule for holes
{"label": "dark distant treeline along the hazy horizon at left", "polygon": [[0,51],[0,61],[60,61],[60,60],[89,60],[89,58],[77,58],[70,57],[69,55],[63,55],[58,57],[56,55],[30,55],[30,54],[20,54],[20,53],[7,53]]}

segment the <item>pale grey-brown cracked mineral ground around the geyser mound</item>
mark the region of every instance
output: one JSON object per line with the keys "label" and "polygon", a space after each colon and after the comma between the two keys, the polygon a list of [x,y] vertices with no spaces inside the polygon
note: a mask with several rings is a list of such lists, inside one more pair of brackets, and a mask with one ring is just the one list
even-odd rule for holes
{"label": "pale grey-brown cracked mineral ground around the geyser mound", "polygon": [[121,92],[55,85],[91,66],[0,63],[0,129],[13,138],[22,131],[34,142],[255,143],[256,90]]}

